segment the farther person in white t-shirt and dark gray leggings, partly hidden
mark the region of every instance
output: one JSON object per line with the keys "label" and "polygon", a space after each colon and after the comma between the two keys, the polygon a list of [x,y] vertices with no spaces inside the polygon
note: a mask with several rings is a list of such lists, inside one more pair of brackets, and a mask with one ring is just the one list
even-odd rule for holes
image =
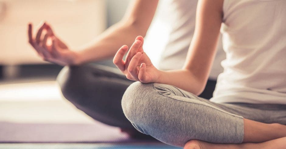
{"label": "farther person in white t-shirt and dark gray leggings, partly hidden", "polygon": [[[178,69],[183,66],[194,34],[197,1],[163,2],[169,6],[164,13],[168,13],[166,23],[171,29],[169,41],[160,58],[159,69]],[[148,136],[134,129],[121,107],[124,91],[134,81],[128,80],[117,69],[86,63],[113,58],[121,45],[131,45],[137,35],[145,36],[157,5],[158,0],[131,2],[127,9],[129,11],[120,22],[108,28],[92,44],[79,52],[70,50],[47,23],[40,26],[35,38],[32,37],[32,24],[28,29],[30,44],[45,61],[67,65],[57,79],[65,98],[95,120],[120,127],[122,131],[136,138]],[[47,44],[49,38],[53,38],[52,45]],[[222,69],[219,63],[224,55],[221,45],[218,46],[217,64],[214,64],[208,86],[201,97],[211,98],[217,74]]]}

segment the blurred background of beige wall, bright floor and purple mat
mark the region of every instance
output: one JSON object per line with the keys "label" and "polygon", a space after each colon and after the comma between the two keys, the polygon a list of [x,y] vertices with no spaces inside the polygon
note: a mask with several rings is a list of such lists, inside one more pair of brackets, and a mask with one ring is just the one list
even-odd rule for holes
{"label": "blurred background of beige wall, bright floor and purple mat", "polygon": [[[169,27],[164,23],[168,16],[162,13],[166,2],[159,3],[144,42],[154,65],[168,39]],[[1,143],[112,142],[127,138],[119,128],[99,124],[63,98],[55,81],[62,66],[44,62],[37,55],[28,43],[27,25],[33,23],[35,35],[37,25],[46,21],[71,49],[78,49],[118,22],[128,3],[0,0]],[[115,67],[111,60],[95,63]],[[100,130],[107,131],[99,136]]]}

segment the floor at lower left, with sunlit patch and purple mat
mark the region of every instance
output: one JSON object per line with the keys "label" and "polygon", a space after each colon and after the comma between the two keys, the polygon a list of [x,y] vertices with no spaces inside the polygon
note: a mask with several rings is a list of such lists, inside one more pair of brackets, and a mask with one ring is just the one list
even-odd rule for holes
{"label": "floor at lower left, with sunlit patch and purple mat", "polygon": [[0,95],[0,149],[177,148],[93,120],[62,97],[53,79],[2,81]]}

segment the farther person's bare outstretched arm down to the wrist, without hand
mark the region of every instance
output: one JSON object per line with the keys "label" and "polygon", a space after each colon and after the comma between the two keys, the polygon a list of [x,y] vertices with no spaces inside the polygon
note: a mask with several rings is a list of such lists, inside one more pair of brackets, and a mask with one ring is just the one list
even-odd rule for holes
{"label": "farther person's bare outstretched arm down to the wrist, without hand", "polygon": [[138,35],[145,36],[152,22],[158,0],[134,0],[122,20],[104,31],[78,52],[78,64],[111,58],[122,46],[131,46]]}

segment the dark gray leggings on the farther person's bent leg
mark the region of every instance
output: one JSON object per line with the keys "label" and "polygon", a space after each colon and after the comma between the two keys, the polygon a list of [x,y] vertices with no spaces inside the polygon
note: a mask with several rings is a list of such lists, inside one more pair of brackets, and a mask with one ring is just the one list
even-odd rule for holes
{"label": "dark gray leggings on the farther person's bent leg", "polygon": [[[95,64],[66,66],[57,81],[65,98],[93,119],[138,132],[121,107],[122,96],[134,81],[117,68]],[[215,81],[209,81],[202,96],[210,98],[214,87]]]}

